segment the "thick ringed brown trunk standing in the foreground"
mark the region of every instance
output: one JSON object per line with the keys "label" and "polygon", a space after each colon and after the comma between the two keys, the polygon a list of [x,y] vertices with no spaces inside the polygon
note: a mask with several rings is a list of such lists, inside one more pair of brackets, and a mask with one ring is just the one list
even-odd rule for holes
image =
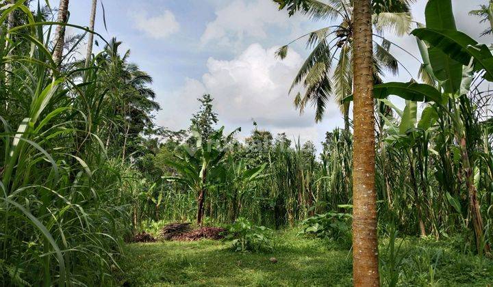
{"label": "thick ringed brown trunk standing in the foreground", "polygon": [[354,1],[353,284],[379,286],[370,0]]}

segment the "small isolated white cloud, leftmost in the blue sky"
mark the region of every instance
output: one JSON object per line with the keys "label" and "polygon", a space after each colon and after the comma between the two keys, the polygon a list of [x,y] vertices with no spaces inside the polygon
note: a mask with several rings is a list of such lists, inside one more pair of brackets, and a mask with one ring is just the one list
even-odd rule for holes
{"label": "small isolated white cloud, leftmost in the blue sky", "polygon": [[154,39],[164,39],[180,29],[173,12],[165,10],[158,16],[149,16],[141,12],[134,16],[136,29]]}

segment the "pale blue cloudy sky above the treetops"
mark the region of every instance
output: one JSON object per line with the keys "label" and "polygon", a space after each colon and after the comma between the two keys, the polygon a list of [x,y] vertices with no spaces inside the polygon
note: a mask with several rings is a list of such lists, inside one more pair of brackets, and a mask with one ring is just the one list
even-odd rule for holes
{"label": "pale blue cloudy sky above the treetops", "polygon": [[[479,39],[485,25],[468,16],[487,1],[452,1],[457,29],[479,42],[491,42],[490,36]],[[69,22],[87,26],[91,2],[71,0]],[[412,6],[414,20],[420,23],[425,23],[426,2],[417,0]],[[58,1],[51,0],[51,5],[58,6]],[[218,125],[227,131],[241,126],[240,138],[249,135],[255,120],[258,128],[314,141],[320,149],[325,132],[344,126],[342,115],[334,102],[327,105],[322,122],[314,122],[311,108],[300,115],[292,103],[295,94],[288,90],[309,51],[303,41],[292,46],[286,59],[277,59],[275,51],[329,25],[303,15],[288,18],[286,10],[279,11],[272,0],[98,0],[95,31],[106,40],[122,41],[121,53],[130,49],[130,61],[153,77],[152,88],[162,108],[155,115],[158,126],[188,128],[199,108],[197,98],[208,93],[214,98]],[[410,72],[401,68],[399,76],[385,80],[417,79],[419,63],[408,54],[419,57],[416,40],[385,36],[407,51],[391,48]],[[94,51],[98,50],[95,46]]]}

